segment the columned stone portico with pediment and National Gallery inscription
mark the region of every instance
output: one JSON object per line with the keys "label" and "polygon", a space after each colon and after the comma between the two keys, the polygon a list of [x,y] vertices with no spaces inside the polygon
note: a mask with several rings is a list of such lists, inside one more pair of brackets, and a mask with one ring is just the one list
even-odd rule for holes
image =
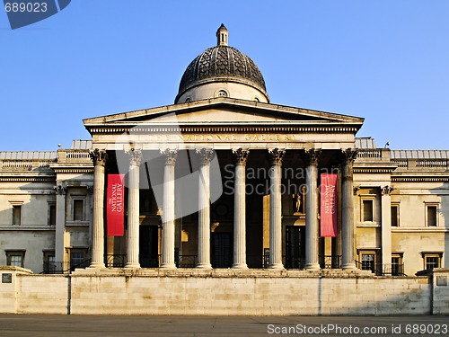
{"label": "columned stone portico with pediment and National Gallery inscription", "polygon": [[[200,121],[206,119],[207,125]],[[352,162],[362,122],[230,98],[84,120],[98,149],[92,151],[92,268],[107,262],[102,208],[108,172],[127,175],[126,239],[108,238],[116,244],[106,252],[126,255],[126,268],[143,262],[175,269],[190,259],[189,267],[201,269],[316,270],[320,255],[330,252],[342,256],[339,267],[355,268]],[[338,172],[342,188],[341,236],[332,241],[319,237],[323,170]],[[295,209],[295,198],[301,209]],[[143,209],[145,203],[152,208]],[[139,252],[149,244],[139,238],[147,227],[157,236],[149,264]],[[292,233],[298,231],[305,233],[304,253],[292,253]]]}

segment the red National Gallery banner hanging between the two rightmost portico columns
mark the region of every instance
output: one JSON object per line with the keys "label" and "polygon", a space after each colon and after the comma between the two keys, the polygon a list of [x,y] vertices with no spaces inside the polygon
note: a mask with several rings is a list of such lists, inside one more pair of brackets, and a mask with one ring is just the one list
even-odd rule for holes
{"label": "red National Gallery banner hanging between the two rightmost portico columns", "polygon": [[321,237],[337,236],[337,174],[321,173]]}

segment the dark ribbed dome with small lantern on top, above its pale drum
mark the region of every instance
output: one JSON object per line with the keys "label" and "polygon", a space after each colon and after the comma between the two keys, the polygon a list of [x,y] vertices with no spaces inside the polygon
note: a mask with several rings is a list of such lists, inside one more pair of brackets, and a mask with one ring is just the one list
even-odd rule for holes
{"label": "dark ribbed dome with small lantern on top, above its pale drum", "polygon": [[190,62],[180,79],[176,100],[194,86],[213,82],[251,85],[268,96],[263,76],[254,61],[240,50],[227,45],[227,30],[223,24],[216,35],[218,45],[203,51]]}

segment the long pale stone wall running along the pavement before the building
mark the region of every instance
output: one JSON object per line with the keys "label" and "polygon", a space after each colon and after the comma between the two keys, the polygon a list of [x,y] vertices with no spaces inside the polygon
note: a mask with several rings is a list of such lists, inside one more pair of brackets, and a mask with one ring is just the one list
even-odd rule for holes
{"label": "long pale stone wall running along the pavement before the building", "polygon": [[[449,287],[430,276],[388,278],[341,270],[77,270],[12,273],[0,313],[75,315],[449,314]],[[449,270],[438,270],[438,276]],[[441,280],[441,279],[440,279]]]}

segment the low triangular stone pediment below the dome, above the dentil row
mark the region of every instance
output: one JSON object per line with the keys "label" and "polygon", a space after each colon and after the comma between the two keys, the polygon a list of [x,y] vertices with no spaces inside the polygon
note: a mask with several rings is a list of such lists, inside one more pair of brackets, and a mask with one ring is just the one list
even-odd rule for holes
{"label": "low triangular stone pediment below the dome, above the dentil row", "polygon": [[360,129],[362,118],[313,111],[277,104],[250,102],[229,98],[188,102],[158,108],[129,111],[84,120],[86,129],[112,126],[172,125],[209,126],[352,126]]}

